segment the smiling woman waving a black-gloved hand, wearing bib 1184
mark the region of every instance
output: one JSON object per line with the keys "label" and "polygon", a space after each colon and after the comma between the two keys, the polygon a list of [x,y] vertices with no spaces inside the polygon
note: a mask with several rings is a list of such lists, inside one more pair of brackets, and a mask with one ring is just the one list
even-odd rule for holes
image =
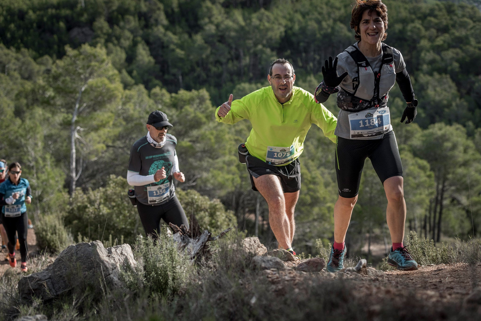
{"label": "smiling woman waving a black-gloved hand, wearing bib 1184", "polygon": [[[418,263],[403,245],[406,203],[403,167],[392,131],[388,92],[394,82],[406,101],[401,122],[409,124],[417,115],[418,101],[401,52],[382,43],[388,27],[387,7],[380,0],[356,0],[351,15],[354,45],[322,67],[324,80],[316,89],[316,100],[324,103],[337,92],[336,174],[339,198],[334,206],[334,244],[327,270],[337,272],[344,265],[344,240],[357,201],[366,157],[378,174],[386,193],[386,220],[392,248],[388,263],[398,270],[417,270]],[[341,75],[341,76],[339,76]],[[381,195],[379,195],[381,196]]]}

